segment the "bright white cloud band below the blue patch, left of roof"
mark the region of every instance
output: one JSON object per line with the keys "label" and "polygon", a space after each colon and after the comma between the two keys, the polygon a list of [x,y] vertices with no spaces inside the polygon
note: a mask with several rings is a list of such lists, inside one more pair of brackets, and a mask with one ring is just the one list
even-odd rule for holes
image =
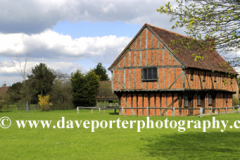
{"label": "bright white cloud band below the blue patch, left of roof", "polygon": [[16,58],[32,53],[31,58],[35,61],[38,59],[71,61],[113,55],[116,57],[130,40],[128,37],[114,35],[72,39],[68,35],[51,30],[32,35],[0,33],[0,56]]}

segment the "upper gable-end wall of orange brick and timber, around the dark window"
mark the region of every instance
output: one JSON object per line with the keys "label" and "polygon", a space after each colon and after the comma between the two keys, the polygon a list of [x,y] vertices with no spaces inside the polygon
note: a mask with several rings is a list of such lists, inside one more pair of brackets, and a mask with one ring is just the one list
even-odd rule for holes
{"label": "upper gable-end wall of orange brick and timber, around the dark window", "polygon": [[[157,81],[142,81],[146,66],[157,67]],[[179,61],[145,28],[113,68],[113,90],[183,89],[182,73]]]}

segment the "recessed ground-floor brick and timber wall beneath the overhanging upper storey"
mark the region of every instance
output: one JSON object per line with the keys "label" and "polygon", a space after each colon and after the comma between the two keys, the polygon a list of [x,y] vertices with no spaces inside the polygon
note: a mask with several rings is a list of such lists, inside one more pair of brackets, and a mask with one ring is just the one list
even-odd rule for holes
{"label": "recessed ground-floor brick and timber wall beneath the overhanging upper storey", "polygon": [[[208,95],[210,93],[201,93],[203,100],[201,100],[201,105],[197,105],[197,94],[199,93],[123,93],[120,101],[120,107],[123,110],[120,110],[120,115],[132,115],[132,116],[147,116],[147,107],[152,107],[154,109],[148,109],[149,116],[172,116],[172,109],[161,109],[161,108],[182,108],[180,110],[175,110],[175,116],[187,116],[187,115],[199,115],[200,108],[209,108],[205,109],[203,113],[210,113],[210,108],[213,108],[213,113],[218,112],[214,108],[223,108],[220,109],[220,112],[227,111],[230,112],[232,109],[232,94],[230,93],[217,93],[215,98],[212,99],[212,105],[208,104]],[[189,101],[189,106],[184,107],[184,96],[192,95],[192,101]],[[214,95],[211,93],[211,95]],[[226,95],[228,98],[226,98]],[[214,96],[213,96],[214,97]],[[226,101],[227,99],[227,101]],[[180,102],[181,101],[181,102]],[[125,103],[123,103],[125,102]],[[124,108],[134,108],[134,109],[124,109]],[[140,108],[140,109],[135,109]],[[191,110],[190,108],[199,108],[198,110]],[[161,110],[160,110],[161,109]],[[123,112],[122,112],[123,111]]]}

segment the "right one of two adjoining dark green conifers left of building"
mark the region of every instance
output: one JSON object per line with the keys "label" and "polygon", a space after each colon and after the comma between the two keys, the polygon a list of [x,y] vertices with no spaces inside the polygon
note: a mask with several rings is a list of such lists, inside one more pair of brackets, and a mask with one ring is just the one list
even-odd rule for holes
{"label": "right one of two adjoining dark green conifers left of building", "polygon": [[97,91],[100,86],[99,83],[99,76],[95,74],[93,70],[90,70],[88,73],[85,75],[87,81],[88,81],[88,104],[87,106],[96,106],[97,102]]}

